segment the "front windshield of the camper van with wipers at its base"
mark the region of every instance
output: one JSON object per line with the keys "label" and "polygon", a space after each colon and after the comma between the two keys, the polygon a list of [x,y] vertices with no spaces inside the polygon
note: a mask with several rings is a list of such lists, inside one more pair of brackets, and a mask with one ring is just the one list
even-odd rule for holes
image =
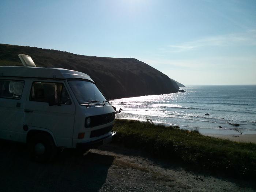
{"label": "front windshield of the camper van with wipers at its base", "polygon": [[68,83],[80,105],[106,101],[94,83],[82,80],[69,80]]}

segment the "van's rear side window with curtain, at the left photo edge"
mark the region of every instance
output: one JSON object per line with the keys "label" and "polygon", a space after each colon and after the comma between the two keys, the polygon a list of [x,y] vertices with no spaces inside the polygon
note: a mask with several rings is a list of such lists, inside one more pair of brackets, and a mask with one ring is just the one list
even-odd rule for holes
{"label": "van's rear side window with curtain, at the left photo edge", "polygon": [[23,87],[23,81],[0,80],[0,97],[20,99]]}

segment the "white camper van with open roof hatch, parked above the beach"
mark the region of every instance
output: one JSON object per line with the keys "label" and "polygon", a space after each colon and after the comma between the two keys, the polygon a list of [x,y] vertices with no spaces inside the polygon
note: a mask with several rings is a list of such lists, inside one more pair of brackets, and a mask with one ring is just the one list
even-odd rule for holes
{"label": "white camper van with open roof hatch, parked above the beach", "polygon": [[115,111],[90,76],[68,69],[0,67],[0,139],[29,143],[40,162],[57,147],[90,148],[112,141]]}

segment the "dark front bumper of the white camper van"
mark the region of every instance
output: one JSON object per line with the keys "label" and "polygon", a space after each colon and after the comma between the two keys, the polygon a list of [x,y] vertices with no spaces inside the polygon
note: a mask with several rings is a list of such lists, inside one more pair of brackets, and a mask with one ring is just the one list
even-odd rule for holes
{"label": "dark front bumper of the white camper van", "polygon": [[78,148],[78,149],[90,149],[90,148],[99,147],[101,145],[112,142],[112,138],[113,138],[114,135],[116,135],[116,131],[112,131],[111,135],[108,135],[108,136],[103,137],[103,138],[98,139],[98,140],[94,140],[94,141],[90,141],[90,142],[86,142],[86,143],[77,143],[76,148]]}

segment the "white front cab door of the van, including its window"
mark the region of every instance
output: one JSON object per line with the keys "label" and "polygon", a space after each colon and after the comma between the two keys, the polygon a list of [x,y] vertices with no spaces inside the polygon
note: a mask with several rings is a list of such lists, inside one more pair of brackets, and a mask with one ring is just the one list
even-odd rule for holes
{"label": "white front cab door of the van, including its window", "polygon": [[31,82],[24,123],[53,133],[57,146],[72,147],[75,105],[62,81]]}

